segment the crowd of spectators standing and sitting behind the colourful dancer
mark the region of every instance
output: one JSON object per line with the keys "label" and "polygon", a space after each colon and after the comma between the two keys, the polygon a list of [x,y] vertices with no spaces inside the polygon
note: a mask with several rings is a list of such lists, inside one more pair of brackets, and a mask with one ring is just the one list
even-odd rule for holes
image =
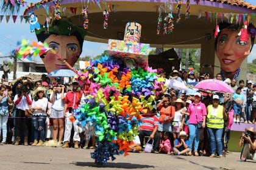
{"label": "crowd of spectators standing and sitting behind the colourful dancer", "polygon": [[[212,73],[197,77],[194,69],[173,70],[170,74],[161,70],[159,77],[185,85],[216,78],[229,84],[235,93],[199,90],[190,94],[167,89],[155,95],[154,109],[148,109],[141,118],[139,135],[131,146],[133,152],[142,151],[148,139],[152,139],[154,153],[225,157],[229,153],[232,124],[256,123],[256,84],[250,80],[240,80],[237,84],[235,79],[222,80],[220,73],[216,77]],[[0,84],[2,145],[96,148],[93,127],[87,126],[84,132],[69,118],[84,103],[83,87],[76,81],[61,82],[61,78],[50,80],[42,75],[35,82],[21,77],[13,84]],[[254,129],[251,132],[255,135]]]}

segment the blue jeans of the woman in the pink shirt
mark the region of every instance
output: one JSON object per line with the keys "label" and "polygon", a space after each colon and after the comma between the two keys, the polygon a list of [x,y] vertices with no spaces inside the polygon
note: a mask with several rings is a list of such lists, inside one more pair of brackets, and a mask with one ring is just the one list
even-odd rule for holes
{"label": "blue jeans of the woman in the pink shirt", "polygon": [[[194,141],[194,151],[197,152],[198,145],[199,145],[199,138],[200,133],[202,129],[197,128],[197,124],[188,124],[188,128],[190,129],[190,138],[188,138],[188,141],[190,142],[190,151],[192,151],[193,141]],[[196,140],[194,140],[196,138]]]}

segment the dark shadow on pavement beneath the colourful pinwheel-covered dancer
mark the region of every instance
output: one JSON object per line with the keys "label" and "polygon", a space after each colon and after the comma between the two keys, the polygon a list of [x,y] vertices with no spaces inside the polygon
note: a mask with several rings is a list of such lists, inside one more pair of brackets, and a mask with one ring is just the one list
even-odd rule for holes
{"label": "dark shadow on pavement beneath the colourful pinwheel-covered dancer", "polygon": [[152,165],[140,165],[140,164],[134,164],[134,163],[113,163],[113,162],[108,162],[106,165],[96,165],[94,162],[81,162],[77,161],[74,163],[76,166],[89,166],[89,167],[98,167],[98,168],[126,168],[126,169],[142,169],[142,168],[156,168],[155,166]]}

